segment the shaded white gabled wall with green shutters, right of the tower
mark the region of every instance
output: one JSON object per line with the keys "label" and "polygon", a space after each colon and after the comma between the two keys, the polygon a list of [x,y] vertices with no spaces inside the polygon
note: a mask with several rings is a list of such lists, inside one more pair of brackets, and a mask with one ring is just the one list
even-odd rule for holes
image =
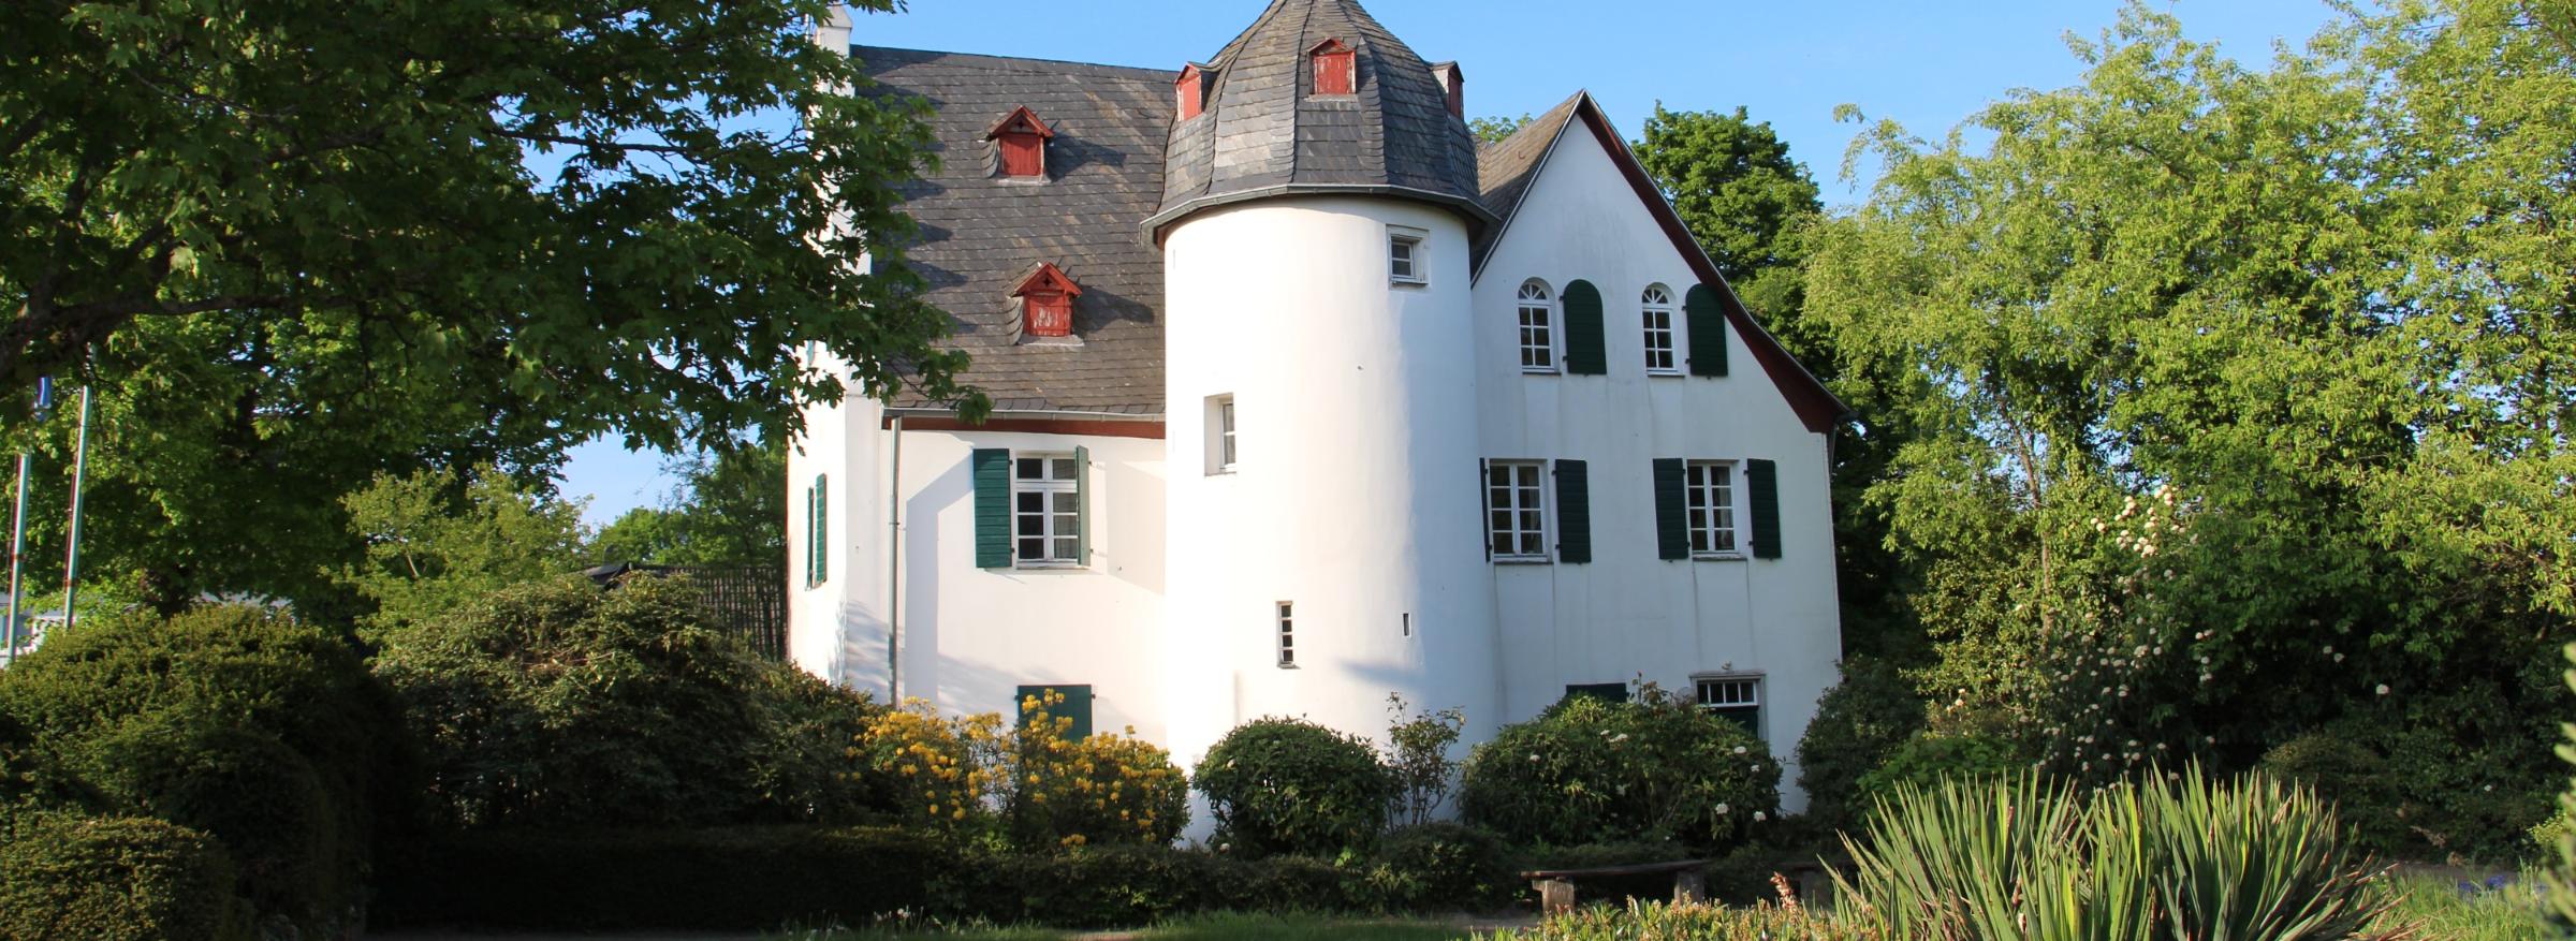
{"label": "shaded white gabled wall with green shutters, right of the tower", "polygon": [[[1556,296],[1577,278],[1600,289],[1607,376],[1522,374],[1517,294],[1528,278]],[[1641,294],[1651,284],[1680,307],[1698,276],[1577,121],[1476,284],[1484,454],[1589,461],[1592,495],[1589,565],[1494,567],[1502,719],[1538,714],[1569,683],[1643,675],[1687,694],[1695,673],[1752,670],[1765,678],[1765,740],[1790,763],[1842,657],[1826,436],[1798,420],[1739,330],[1728,330],[1728,376],[1649,376]],[[1674,330],[1687,330],[1680,309]],[[1677,345],[1687,353],[1687,335]],[[1659,559],[1659,456],[1777,461],[1783,557]],[[1741,477],[1736,492],[1744,521]],[[1803,810],[1795,779],[1790,766],[1783,797]]]}

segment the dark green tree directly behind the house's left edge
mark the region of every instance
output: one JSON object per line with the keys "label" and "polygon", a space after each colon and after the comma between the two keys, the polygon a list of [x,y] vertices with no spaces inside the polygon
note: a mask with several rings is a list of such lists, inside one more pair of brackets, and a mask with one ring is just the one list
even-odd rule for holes
{"label": "dark green tree directly behind the house's left edge", "polygon": [[670,464],[680,487],[659,508],[634,508],[600,529],[592,557],[647,565],[765,565],[788,559],[788,451],[783,438],[737,443]]}

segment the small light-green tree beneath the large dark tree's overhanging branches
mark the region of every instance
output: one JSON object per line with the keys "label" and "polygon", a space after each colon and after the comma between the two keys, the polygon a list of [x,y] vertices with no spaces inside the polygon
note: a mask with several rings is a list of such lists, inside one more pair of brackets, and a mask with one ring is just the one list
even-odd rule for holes
{"label": "small light-green tree beneath the large dark tree's overhanging branches", "polygon": [[376,477],[343,500],[366,562],[337,580],[379,626],[420,624],[492,593],[582,567],[582,503],[523,490],[497,467]]}

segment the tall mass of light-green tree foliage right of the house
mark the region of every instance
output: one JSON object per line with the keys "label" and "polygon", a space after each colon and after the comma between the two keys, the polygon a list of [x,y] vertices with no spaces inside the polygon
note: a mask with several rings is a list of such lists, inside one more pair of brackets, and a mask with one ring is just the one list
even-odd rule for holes
{"label": "tall mass of light-green tree foliage right of the house", "polygon": [[1806,317],[1904,431],[1868,500],[1937,701],[2092,776],[2349,719],[2416,797],[2545,804],[2571,28],[2396,3],[2254,70],[2133,5],[2081,85],[1862,134],[1883,175],[1819,229]]}

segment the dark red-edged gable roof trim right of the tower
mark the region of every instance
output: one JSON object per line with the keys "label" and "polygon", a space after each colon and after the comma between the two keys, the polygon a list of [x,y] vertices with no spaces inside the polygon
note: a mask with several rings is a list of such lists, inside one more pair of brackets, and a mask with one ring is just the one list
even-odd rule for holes
{"label": "dark red-edged gable roof trim right of the tower", "polygon": [[1615,188],[1636,199],[1662,240],[1669,242],[1672,250],[1680,253],[1682,263],[1690,266],[1692,276],[1718,294],[1726,307],[1728,325],[1744,338],[1754,364],[1762,366],[1762,374],[1780,392],[1780,397],[1788,400],[1790,410],[1798,412],[1798,420],[1806,423],[1808,431],[1826,433],[1850,418],[1852,410],[1842,405],[1842,400],[1837,400],[1834,392],[1816,379],[1816,374],[1798,366],[1798,361],[1780,348],[1780,340],[1775,340],[1770,330],[1762,330],[1762,322],[1754,320],[1754,315],[1736,296],[1734,286],[1726,284],[1716,260],[1710,260],[1708,250],[1703,250],[1690,235],[1682,217],[1672,211],[1664,193],[1654,188],[1654,178],[1649,178],[1646,168],[1636,162],[1636,155],[1628,150],[1618,129],[1610,126],[1610,119],[1589,93],[1566,98],[1566,103],[1522,126],[1520,134],[1479,152],[1479,162],[1484,165],[1479,173],[1479,188],[1484,191],[1486,209],[1502,217],[1502,224],[1489,227],[1489,235],[1479,240],[1471,255],[1476,278],[1484,278],[1486,260],[1492,260],[1494,253],[1515,237],[1515,217],[1530,199],[1538,178],[1548,173],[1551,162],[1558,162],[1558,155],[1566,147],[1592,147],[1597,155],[1607,157],[1610,170],[1618,175]]}

